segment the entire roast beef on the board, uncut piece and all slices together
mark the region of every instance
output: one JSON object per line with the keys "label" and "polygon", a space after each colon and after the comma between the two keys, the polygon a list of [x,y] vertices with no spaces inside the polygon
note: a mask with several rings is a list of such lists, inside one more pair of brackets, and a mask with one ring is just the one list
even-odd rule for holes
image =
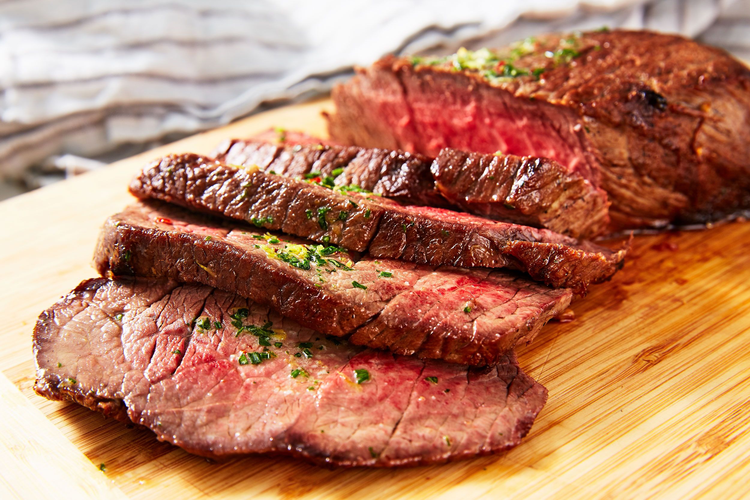
{"label": "entire roast beef on the board, uncut piece and all slices together", "polygon": [[[693,157],[659,135],[695,118],[686,103],[706,108],[691,78],[710,57],[731,78],[719,91],[719,82],[700,76],[703,90],[721,97],[702,112],[708,117],[715,106],[716,120],[723,113],[746,124],[748,72],[675,37],[638,52],[655,39],[662,40],[625,32],[551,37],[538,43],[568,52],[546,51],[553,57],[543,71],[505,67],[508,75],[480,67],[500,64],[491,54],[480,66],[459,54],[464,66],[453,69],[444,67],[448,60],[387,59],[335,92],[331,131],[339,143],[274,133],[229,140],[211,157],[149,163],[130,184],[139,201],[101,232],[102,277],[40,316],[37,392],[133,421],[209,457],[268,452],[401,466],[517,445],[547,392],[520,370],[514,346],[612,277],[625,258],[626,245],[612,250],[590,240],[623,227],[731,217],[750,206],[737,173],[746,166],[712,168],[720,151],[706,156],[706,145]],[[695,59],[668,81],[664,73],[649,80],[666,97],[622,73],[647,65],[662,45]],[[578,94],[566,82],[583,78],[579,71],[592,77],[592,64],[612,69],[617,57],[628,64],[607,92],[627,102],[608,118],[604,106],[576,108]],[[637,70],[639,82],[641,70],[649,68]],[[556,96],[552,85],[567,93]],[[432,91],[455,97],[444,115],[431,108],[440,103]],[[595,116],[575,115],[593,108]],[[535,128],[514,128],[502,109],[515,118],[527,113]],[[422,114],[402,120],[400,112]],[[490,112],[502,127],[481,115]],[[547,116],[553,120],[544,123]],[[700,123],[692,140],[703,144],[718,125]],[[475,140],[449,124],[472,124]],[[615,126],[633,144],[663,153],[661,174],[682,175],[668,166],[679,157],[684,182],[660,182],[635,166],[633,181],[633,172],[618,170],[618,154],[633,150],[607,146]],[[544,143],[547,129],[556,135]],[[731,130],[734,143],[745,129]],[[533,151],[493,151],[514,137]],[[550,154],[529,156],[542,150]],[[639,186],[642,197],[655,198],[634,203]]]}

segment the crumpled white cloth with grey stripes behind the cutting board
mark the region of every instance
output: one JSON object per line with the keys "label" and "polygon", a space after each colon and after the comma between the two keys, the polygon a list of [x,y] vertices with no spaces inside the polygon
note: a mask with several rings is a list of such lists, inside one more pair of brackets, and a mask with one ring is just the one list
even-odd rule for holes
{"label": "crumpled white cloth with grey stripes behind the cutting board", "polygon": [[747,56],[748,18],[750,0],[4,1],[0,178],[60,154],[75,171],[77,156],[111,160],[323,94],[388,52],[608,25]]}

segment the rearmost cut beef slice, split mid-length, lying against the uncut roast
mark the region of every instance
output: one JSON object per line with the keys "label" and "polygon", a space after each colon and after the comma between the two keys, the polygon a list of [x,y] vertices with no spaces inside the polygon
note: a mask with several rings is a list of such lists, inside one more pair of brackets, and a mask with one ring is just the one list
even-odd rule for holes
{"label": "rearmost cut beef slice, split mid-length, lying against the uncut roast", "polygon": [[436,159],[378,148],[327,145],[301,133],[279,141],[232,139],[214,156],[290,177],[329,177],[410,205],[458,207],[472,214],[543,227],[574,238],[606,229],[607,194],[547,158],[465,153],[444,148]]}

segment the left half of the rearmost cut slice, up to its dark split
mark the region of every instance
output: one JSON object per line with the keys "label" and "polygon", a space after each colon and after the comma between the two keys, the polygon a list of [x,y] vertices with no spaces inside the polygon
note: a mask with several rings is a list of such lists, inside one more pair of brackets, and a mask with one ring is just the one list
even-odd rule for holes
{"label": "left half of the rearmost cut slice, up to its dark split", "polygon": [[432,159],[422,154],[310,143],[312,137],[299,133],[286,137],[284,142],[231,139],[211,156],[221,163],[257,165],[263,172],[287,177],[329,177],[332,186],[356,186],[410,205],[450,206],[435,186]]}

